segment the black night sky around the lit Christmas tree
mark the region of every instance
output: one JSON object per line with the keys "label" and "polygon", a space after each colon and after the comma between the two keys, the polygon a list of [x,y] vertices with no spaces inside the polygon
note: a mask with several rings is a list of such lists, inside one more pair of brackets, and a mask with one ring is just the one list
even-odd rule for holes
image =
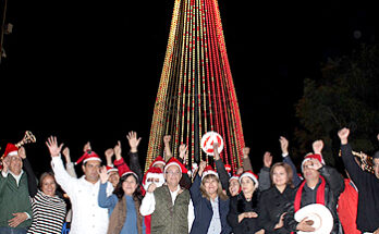
{"label": "black night sky around the lit Christmas tree", "polygon": [[[51,134],[76,159],[87,140],[102,153],[121,139],[125,156],[125,135],[136,131],[143,161],[173,2],[9,0],[7,22],[14,28],[0,64],[1,153],[30,130],[38,143],[27,146],[27,156],[40,173],[49,169]],[[294,104],[303,79],[319,78],[328,58],[378,42],[374,3],[219,0],[256,171],[266,150],[279,159],[280,135],[296,147]]]}

